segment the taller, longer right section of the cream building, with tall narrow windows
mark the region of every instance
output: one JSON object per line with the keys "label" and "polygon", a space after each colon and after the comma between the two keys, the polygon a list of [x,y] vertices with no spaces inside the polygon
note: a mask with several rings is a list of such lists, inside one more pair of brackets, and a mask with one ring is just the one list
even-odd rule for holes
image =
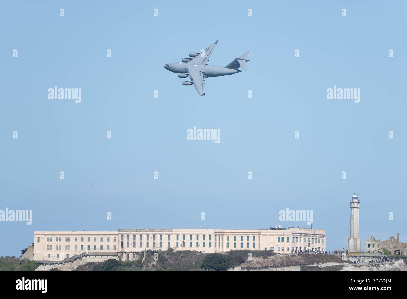
{"label": "taller, longer right section of the cream building, with tall narrow windows", "polygon": [[119,229],[123,259],[138,258],[144,250],[196,250],[203,253],[230,250],[326,250],[324,229]]}

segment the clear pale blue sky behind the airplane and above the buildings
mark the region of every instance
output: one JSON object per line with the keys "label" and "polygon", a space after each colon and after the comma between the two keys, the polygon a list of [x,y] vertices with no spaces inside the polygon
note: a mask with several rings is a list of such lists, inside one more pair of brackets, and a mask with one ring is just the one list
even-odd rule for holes
{"label": "clear pale blue sky behind the airplane and above the buildings", "polygon": [[[407,242],[404,1],[37,2],[0,9],[0,210],[33,210],[32,225],[0,222],[0,255],[36,230],[309,227],[279,222],[287,207],[313,210],[333,250],[353,192],[362,250]],[[210,64],[252,54],[206,96],[163,68],[216,40]],[[55,85],[81,103],[48,99]],[[328,100],[334,85],[360,103]],[[186,140],[194,126],[221,142]]]}

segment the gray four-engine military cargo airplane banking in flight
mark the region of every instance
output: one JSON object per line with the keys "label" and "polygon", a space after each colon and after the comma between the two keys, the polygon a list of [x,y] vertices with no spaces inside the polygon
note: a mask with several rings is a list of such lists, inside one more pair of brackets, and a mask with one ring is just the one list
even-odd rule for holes
{"label": "gray four-engine military cargo airplane banking in flight", "polygon": [[182,81],[182,85],[194,85],[198,94],[204,96],[205,78],[233,75],[241,72],[241,70],[238,70],[240,67],[242,67],[244,71],[247,71],[246,62],[249,61],[247,60],[247,57],[250,55],[250,51],[247,51],[241,57],[234,59],[234,61],[226,66],[207,65],[206,62],[209,61],[213,49],[217,44],[218,41],[215,41],[214,44],[210,45],[201,53],[190,52],[189,56],[193,58],[183,58],[182,63],[167,63],[164,65],[164,68],[171,72],[178,73],[179,78],[189,77],[190,81]]}

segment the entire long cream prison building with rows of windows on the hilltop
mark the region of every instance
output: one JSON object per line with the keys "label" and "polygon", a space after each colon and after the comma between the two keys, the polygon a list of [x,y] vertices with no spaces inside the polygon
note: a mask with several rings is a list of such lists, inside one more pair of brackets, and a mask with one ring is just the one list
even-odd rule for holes
{"label": "entire long cream prison building with rows of windows on the hilltop", "polygon": [[133,260],[145,250],[196,250],[204,253],[238,249],[326,250],[324,229],[119,229],[118,231],[35,231],[34,260],[58,261],[73,255],[117,254]]}

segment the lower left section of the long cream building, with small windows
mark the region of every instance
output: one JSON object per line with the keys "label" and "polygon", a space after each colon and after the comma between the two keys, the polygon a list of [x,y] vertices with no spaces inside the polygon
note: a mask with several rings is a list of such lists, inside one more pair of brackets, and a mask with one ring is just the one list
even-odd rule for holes
{"label": "lower left section of the long cream building, with small windows", "polygon": [[83,252],[117,250],[117,231],[34,231],[34,260],[63,260]]}

